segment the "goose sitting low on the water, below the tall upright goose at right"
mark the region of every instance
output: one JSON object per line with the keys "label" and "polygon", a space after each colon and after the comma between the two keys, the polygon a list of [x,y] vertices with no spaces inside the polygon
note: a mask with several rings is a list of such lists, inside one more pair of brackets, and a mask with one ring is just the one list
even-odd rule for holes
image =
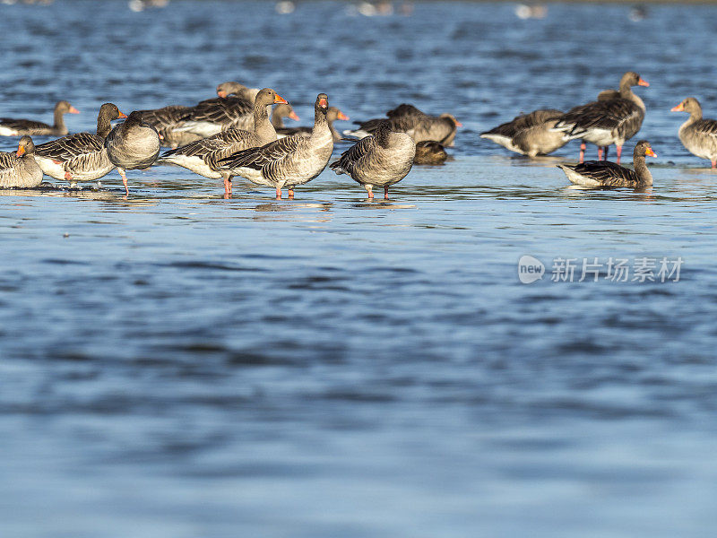
{"label": "goose sitting low on the water, below the tall upright goose at right", "polygon": [[652,174],[647,169],[644,157],[657,157],[650,143],[641,140],[635,145],[633,164],[635,170],[626,169],[609,161],[585,161],[581,164],[558,164],[567,178],[575,185],[584,187],[649,187],[652,185]]}

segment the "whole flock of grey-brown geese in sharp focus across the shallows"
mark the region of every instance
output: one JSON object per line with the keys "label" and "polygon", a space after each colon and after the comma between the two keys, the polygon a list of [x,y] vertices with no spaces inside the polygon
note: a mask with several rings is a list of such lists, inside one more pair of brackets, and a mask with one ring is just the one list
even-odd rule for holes
{"label": "whole flock of grey-brown geese in sharp focus across the shallows", "polygon": [[[597,100],[563,113],[540,109],[480,134],[505,148],[534,157],[556,151],[570,140],[580,140],[579,163],[558,168],[577,185],[586,187],[644,187],[652,185],[645,157],[655,157],[650,143],[640,141],[633,152],[634,169],[619,165],[622,148],[640,130],[645,106],[634,86],[648,86],[640,75],[627,72],[618,91],[601,91]],[[273,107],[273,109],[272,109]],[[694,98],[683,100],[673,111],[690,117],[679,129],[679,139],[689,152],[717,166],[717,121],[704,119]],[[170,105],[135,110],[126,116],[112,103],[99,108],[96,133],[68,134],[64,115],[77,114],[67,101],[59,101],[52,126],[28,119],[0,118],[0,135],[21,136],[16,152],[0,152],[0,187],[38,187],[43,174],[65,179],[71,187],[94,182],[117,168],[129,195],[126,170],[170,164],[205,178],[222,179],[224,196],[231,195],[232,178],[246,178],[255,185],[272,187],[281,199],[287,189],[318,176],[331,160],[334,143],[344,138],[333,126],[348,120],[329,106],[319,93],[314,104],[314,125],[286,127],[283,119],[298,120],[287,100],[271,88],[255,90],[238,82],[223,82],[217,97],[193,107]],[[271,117],[270,117],[271,113]],[[112,126],[112,121],[125,121]],[[385,117],[356,122],[358,128],[343,135],[354,143],[331,163],[337,174],[347,174],[373,198],[374,187],[388,189],[410,172],[414,162],[439,164],[447,155],[444,146],[454,144],[462,126],[450,114],[430,116],[402,104]],[[32,136],[59,136],[35,145]],[[598,147],[598,161],[584,161],[586,143]],[[610,145],[617,148],[617,162],[607,161]],[[170,149],[160,155],[161,146]]]}

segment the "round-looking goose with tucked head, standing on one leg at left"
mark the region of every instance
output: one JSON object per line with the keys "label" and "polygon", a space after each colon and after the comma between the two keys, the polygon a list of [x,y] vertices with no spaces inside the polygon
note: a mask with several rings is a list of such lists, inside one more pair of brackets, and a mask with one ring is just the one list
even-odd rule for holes
{"label": "round-looking goose with tucked head, standing on one leg at left", "polygon": [[117,167],[127,188],[125,170],[150,168],[160,155],[160,134],[142,119],[142,113],[132,112],[124,122],[115,126],[105,138],[109,161]]}

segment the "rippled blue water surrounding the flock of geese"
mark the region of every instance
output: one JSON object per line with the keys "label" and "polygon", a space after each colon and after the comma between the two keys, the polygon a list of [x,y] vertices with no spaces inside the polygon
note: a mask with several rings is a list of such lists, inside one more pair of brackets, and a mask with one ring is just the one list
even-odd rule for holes
{"label": "rippled blue water surrounding the flock of geese", "polygon": [[[717,114],[717,10],[345,7],[0,5],[17,29],[0,35],[2,116],[67,99],[68,126],[91,129],[107,100],[192,103],[239,80],[302,123],[326,91],[352,118],[410,101],[465,125],[454,160],[390,202],[328,171],[293,201],[241,181],[223,200],[168,167],[129,172],[127,200],[117,172],[99,191],[0,191],[0,534],[708,535],[717,175],[669,108],[695,95]],[[626,69],[652,84],[645,192],[567,187],[574,144],[529,161],[478,138]],[[519,282],[523,255],[540,282]],[[606,266],[551,282],[558,256],[684,263],[679,282]]]}

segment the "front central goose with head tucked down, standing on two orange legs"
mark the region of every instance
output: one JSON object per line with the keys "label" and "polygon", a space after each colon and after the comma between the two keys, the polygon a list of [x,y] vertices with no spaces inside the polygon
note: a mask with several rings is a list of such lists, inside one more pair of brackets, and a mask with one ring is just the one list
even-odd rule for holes
{"label": "front central goose with head tucked down, standing on two orange legs", "polygon": [[341,153],[331,164],[337,174],[348,174],[363,185],[368,197],[374,197],[374,187],[384,187],[388,200],[388,187],[405,178],[413,167],[416,143],[406,133],[393,131],[391,122],[384,121],[375,134],[362,138]]}

